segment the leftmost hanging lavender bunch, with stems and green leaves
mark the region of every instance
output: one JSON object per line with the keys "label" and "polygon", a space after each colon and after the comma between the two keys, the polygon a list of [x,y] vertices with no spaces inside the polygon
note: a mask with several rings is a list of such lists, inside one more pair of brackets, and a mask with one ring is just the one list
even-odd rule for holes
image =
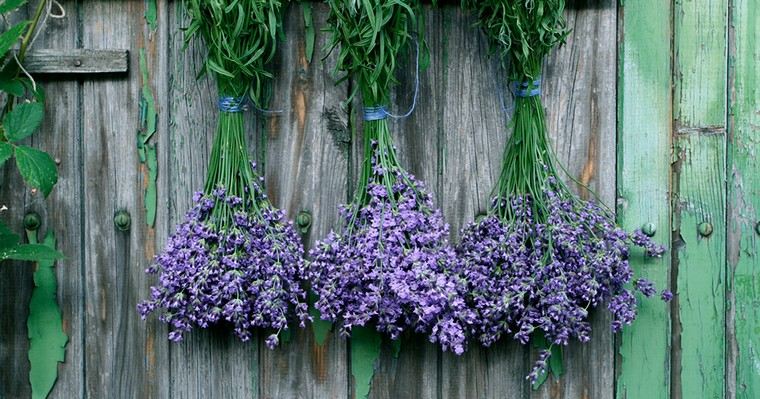
{"label": "leftmost hanging lavender bunch, with stems and green leaves", "polygon": [[219,122],[205,188],[196,193],[164,251],[147,273],[158,274],[150,298],[138,305],[145,318],[157,312],[179,341],[193,327],[226,322],[242,341],[255,329],[279,333],[295,318],[309,320],[303,246],[293,223],[272,206],[245,143],[242,111],[260,105],[265,64],[274,55],[281,26],[279,1],[187,0],[187,39],[209,45],[204,67],[219,90]]}

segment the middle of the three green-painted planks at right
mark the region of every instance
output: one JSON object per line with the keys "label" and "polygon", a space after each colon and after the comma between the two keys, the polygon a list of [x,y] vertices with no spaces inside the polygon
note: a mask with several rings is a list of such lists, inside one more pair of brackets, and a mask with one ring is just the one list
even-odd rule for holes
{"label": "middle of the three green-painted planks at right", "polygon": [[726,0],[674,9],[675,398],[725,392],[727,12]]}

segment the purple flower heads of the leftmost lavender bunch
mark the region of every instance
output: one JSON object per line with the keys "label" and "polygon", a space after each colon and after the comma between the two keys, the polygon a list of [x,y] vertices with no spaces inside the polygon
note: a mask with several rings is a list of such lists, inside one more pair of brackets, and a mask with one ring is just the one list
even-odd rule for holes
{"label": "purple flower heads of the leftmost lavender bunch", "polygon": [[[253,212],[250,200],[245,203],[221,188],[211,195],[196,193],[193,200],[184,222],[146,270],[159,274],[159,283],[138,305],[141,317],[157,311],[169,324],[172,341],[193,327],[228,322],[242,341],[256,328],[274,330],[266,344],[276,346],[291,312],[301,326],[310,319],[302,288],[303,246],[292,222],[265,201]],[[226,225],[220,225],[215,209],[232,215]]]}

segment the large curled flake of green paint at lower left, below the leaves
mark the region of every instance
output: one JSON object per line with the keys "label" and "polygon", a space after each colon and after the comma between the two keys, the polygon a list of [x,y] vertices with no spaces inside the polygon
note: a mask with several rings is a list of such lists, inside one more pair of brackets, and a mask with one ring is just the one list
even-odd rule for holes
{"label": "large curled flake of green paint at lower left, below the leaves", "polygon": [[[31,244],[37,243],[37,232],[27,231]],[[55,249],[55,236],[48,232],[43,245]],[[58,307],[55,262],[43,261],[34,272],[34,290],[29,302],[26,325],[29,334],[29,382],[32,398],[46,398],[58,378],[58,363],[63,362],[69,337],[63,331]]]}

